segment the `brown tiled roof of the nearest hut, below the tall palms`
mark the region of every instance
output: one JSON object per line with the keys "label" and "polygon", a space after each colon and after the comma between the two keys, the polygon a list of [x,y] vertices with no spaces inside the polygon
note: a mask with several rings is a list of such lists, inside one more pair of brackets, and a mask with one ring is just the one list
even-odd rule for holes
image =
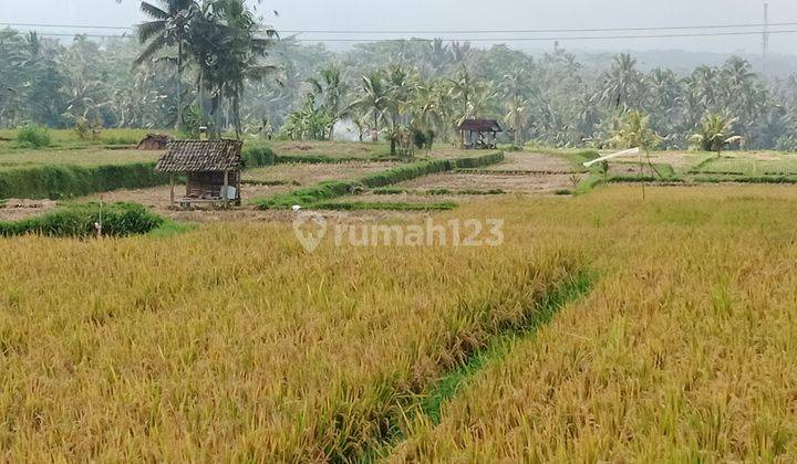
{"label": "brown tiled roof of the nearest hut, below the tall palms", "polygon": [[174,140],[155,167],[161,172],[214,172],[240,169],[238,140]]}

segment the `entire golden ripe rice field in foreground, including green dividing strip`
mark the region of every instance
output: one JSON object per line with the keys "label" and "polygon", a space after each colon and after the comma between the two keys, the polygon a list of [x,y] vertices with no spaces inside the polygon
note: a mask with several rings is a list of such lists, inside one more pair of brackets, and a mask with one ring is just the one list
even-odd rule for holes
{"label": "entire golden ripe rice field in foreground, including green dividing strip", "polygon": [[797,458],[794,188],[376,224],[429,219],[503,219],[504,240],[309,253],[279,221],[0,240],[3,460]]}

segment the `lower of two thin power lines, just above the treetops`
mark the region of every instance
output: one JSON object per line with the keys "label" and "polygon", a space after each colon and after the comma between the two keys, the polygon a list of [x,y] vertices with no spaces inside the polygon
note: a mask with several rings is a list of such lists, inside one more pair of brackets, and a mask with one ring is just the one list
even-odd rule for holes
{"label": "lower of two thin power lines, just above the treetops", "polygon": [[[769,31],[768,34],[794,34],[797,33],[797,29],[794,30],[780,30]],[[677,39],[677,38],[711,38],[711,36],[739,36],[739,35],[759,35],[760,31],[745,31],[745,32],[705,32],[705,33],[676,33],[676,34],[640,34],[640,35],[583,35],[583,36],[547,36],[547,38],[438,38],[444,41],[460,41],[460,42],[550,42],[550,41],[586,41],[586,40],[623,40],[623,39]],[[96,39],[134,39],[134,34],[80,34],[80,33],[49,33],[44,32],[40,35],[46,38],[74,38],[76,35],[84,35],[87,38]],[[296,42],[379,42],[379,41],[401,41],[401,40],[415,40],[415,41],[427,41],[431,42],[434,39],[424,38],[359,38],[359,39],[292,39]]]}

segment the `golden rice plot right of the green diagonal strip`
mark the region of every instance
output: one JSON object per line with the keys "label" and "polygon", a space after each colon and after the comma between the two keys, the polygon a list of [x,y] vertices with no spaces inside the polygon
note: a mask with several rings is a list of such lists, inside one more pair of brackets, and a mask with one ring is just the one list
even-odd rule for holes
{"label": "golden rice plot right of the green diagonal strip", "polygon": [[601,280],[488,361],[439,424],[417,421],[391,461],[797,457],[795,193],[651,188],[641,202],[630,189],[519,214],[600,250]]}

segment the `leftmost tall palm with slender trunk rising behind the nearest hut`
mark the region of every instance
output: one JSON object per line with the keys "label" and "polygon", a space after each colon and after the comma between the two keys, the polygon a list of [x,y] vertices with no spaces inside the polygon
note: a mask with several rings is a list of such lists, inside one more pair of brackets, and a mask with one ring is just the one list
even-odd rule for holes
{"label": "leftmost tall palm with slender trunk rising behind the nearest hut", "polygon": [[143,1],[141,9],[152,18],[138,27],[138,40],[147,43],[135,64],[139,65],[163,49],[177,46],[177,126],[183,123],[183,64],[192,41],[192,22],[200,13],[195,0],[158,0],[162,8]]}

